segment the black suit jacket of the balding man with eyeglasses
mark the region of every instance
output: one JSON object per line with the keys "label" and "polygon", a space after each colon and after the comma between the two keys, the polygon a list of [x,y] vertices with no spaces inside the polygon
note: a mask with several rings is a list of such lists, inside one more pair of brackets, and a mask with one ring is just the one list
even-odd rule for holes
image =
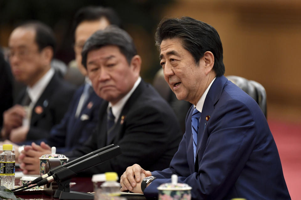
{"label": "black suit jacket of the balding man with eyeglasses", "polygon": [[[73,96],[75,88],[54,74],[39,100],[33,107],[27,140],[46,138],[52,126],[60,123]],[[20,104],[26,89],[16,103]]]}

